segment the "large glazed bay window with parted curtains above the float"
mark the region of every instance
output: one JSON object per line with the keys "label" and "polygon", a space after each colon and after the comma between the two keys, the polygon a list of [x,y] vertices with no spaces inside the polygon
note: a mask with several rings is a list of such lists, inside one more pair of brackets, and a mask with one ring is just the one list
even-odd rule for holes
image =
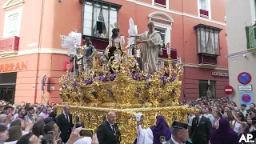
{"label": "large glazed bay window with parted curtains above the float", "polygon": [[109,38],[112,26],[118,23],[120,5],[94,0],[84,2],[82,35]]}

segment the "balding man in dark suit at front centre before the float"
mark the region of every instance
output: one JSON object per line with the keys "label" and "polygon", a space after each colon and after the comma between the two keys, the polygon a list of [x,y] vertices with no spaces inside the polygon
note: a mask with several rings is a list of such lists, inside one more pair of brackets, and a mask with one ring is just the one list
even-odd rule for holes
{"label": "balding man in dark suit at front centre before the float", "polygon": [[115,123],[116,115],[113,111],[107,114],[107,119],[98,126],[97,137],[99,144],[118,144],[120,143],[120,132]]}

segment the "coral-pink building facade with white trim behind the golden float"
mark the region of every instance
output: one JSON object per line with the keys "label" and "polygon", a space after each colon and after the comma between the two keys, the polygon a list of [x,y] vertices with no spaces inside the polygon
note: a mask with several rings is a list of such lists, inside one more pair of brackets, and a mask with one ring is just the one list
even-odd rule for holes
{"label": "coral-pink building facade with white trim behind the golden float", "polygon": [[0,6],[0,99],[43,102],[43,95],[46,102],[61,102],[58,78],[69,58],[59,35],[76,29],[101,52],[116,23],[128,36],[130,18],[139,33],[154,21],[163,45],[173,48],[172,58],[182,57],[181,101],[204,97],[209,87],[212,96],[225,96],[229,73],[220,0],[0,0]]}

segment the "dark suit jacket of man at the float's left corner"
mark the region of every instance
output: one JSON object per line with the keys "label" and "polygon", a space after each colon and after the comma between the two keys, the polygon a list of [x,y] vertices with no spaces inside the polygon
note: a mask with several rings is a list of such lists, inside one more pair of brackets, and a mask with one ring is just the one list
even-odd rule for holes
{"label": "dark suit jacket of man at the float's left corner", "polygon": [[59,130],[61,130],[62,134],[61,134],[61,138],[62,138],[62,142],[67,142],[70,138],[70,134],[72,132],[72,128],[74,126],[73,122],[72,122],[72,115],[68,114],[69,118],[70,118],[70,122],[68,122],[66,120],[65,115],[59,114],[58,117],[56,118],[56,123],[58,125]]}

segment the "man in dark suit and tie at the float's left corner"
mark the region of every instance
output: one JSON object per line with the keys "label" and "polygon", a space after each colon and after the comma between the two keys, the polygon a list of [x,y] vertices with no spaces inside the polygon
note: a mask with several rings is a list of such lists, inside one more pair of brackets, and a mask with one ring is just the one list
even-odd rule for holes
{"label": "man in dark suit and tie at the float's left corner", "polygon": [[62,132],[62,142],[67,142],[74,126],[72,122],[72,115],[70,114],[70,106],[64,106],[63,112],[58,115],[56,122],[59,130]]}

